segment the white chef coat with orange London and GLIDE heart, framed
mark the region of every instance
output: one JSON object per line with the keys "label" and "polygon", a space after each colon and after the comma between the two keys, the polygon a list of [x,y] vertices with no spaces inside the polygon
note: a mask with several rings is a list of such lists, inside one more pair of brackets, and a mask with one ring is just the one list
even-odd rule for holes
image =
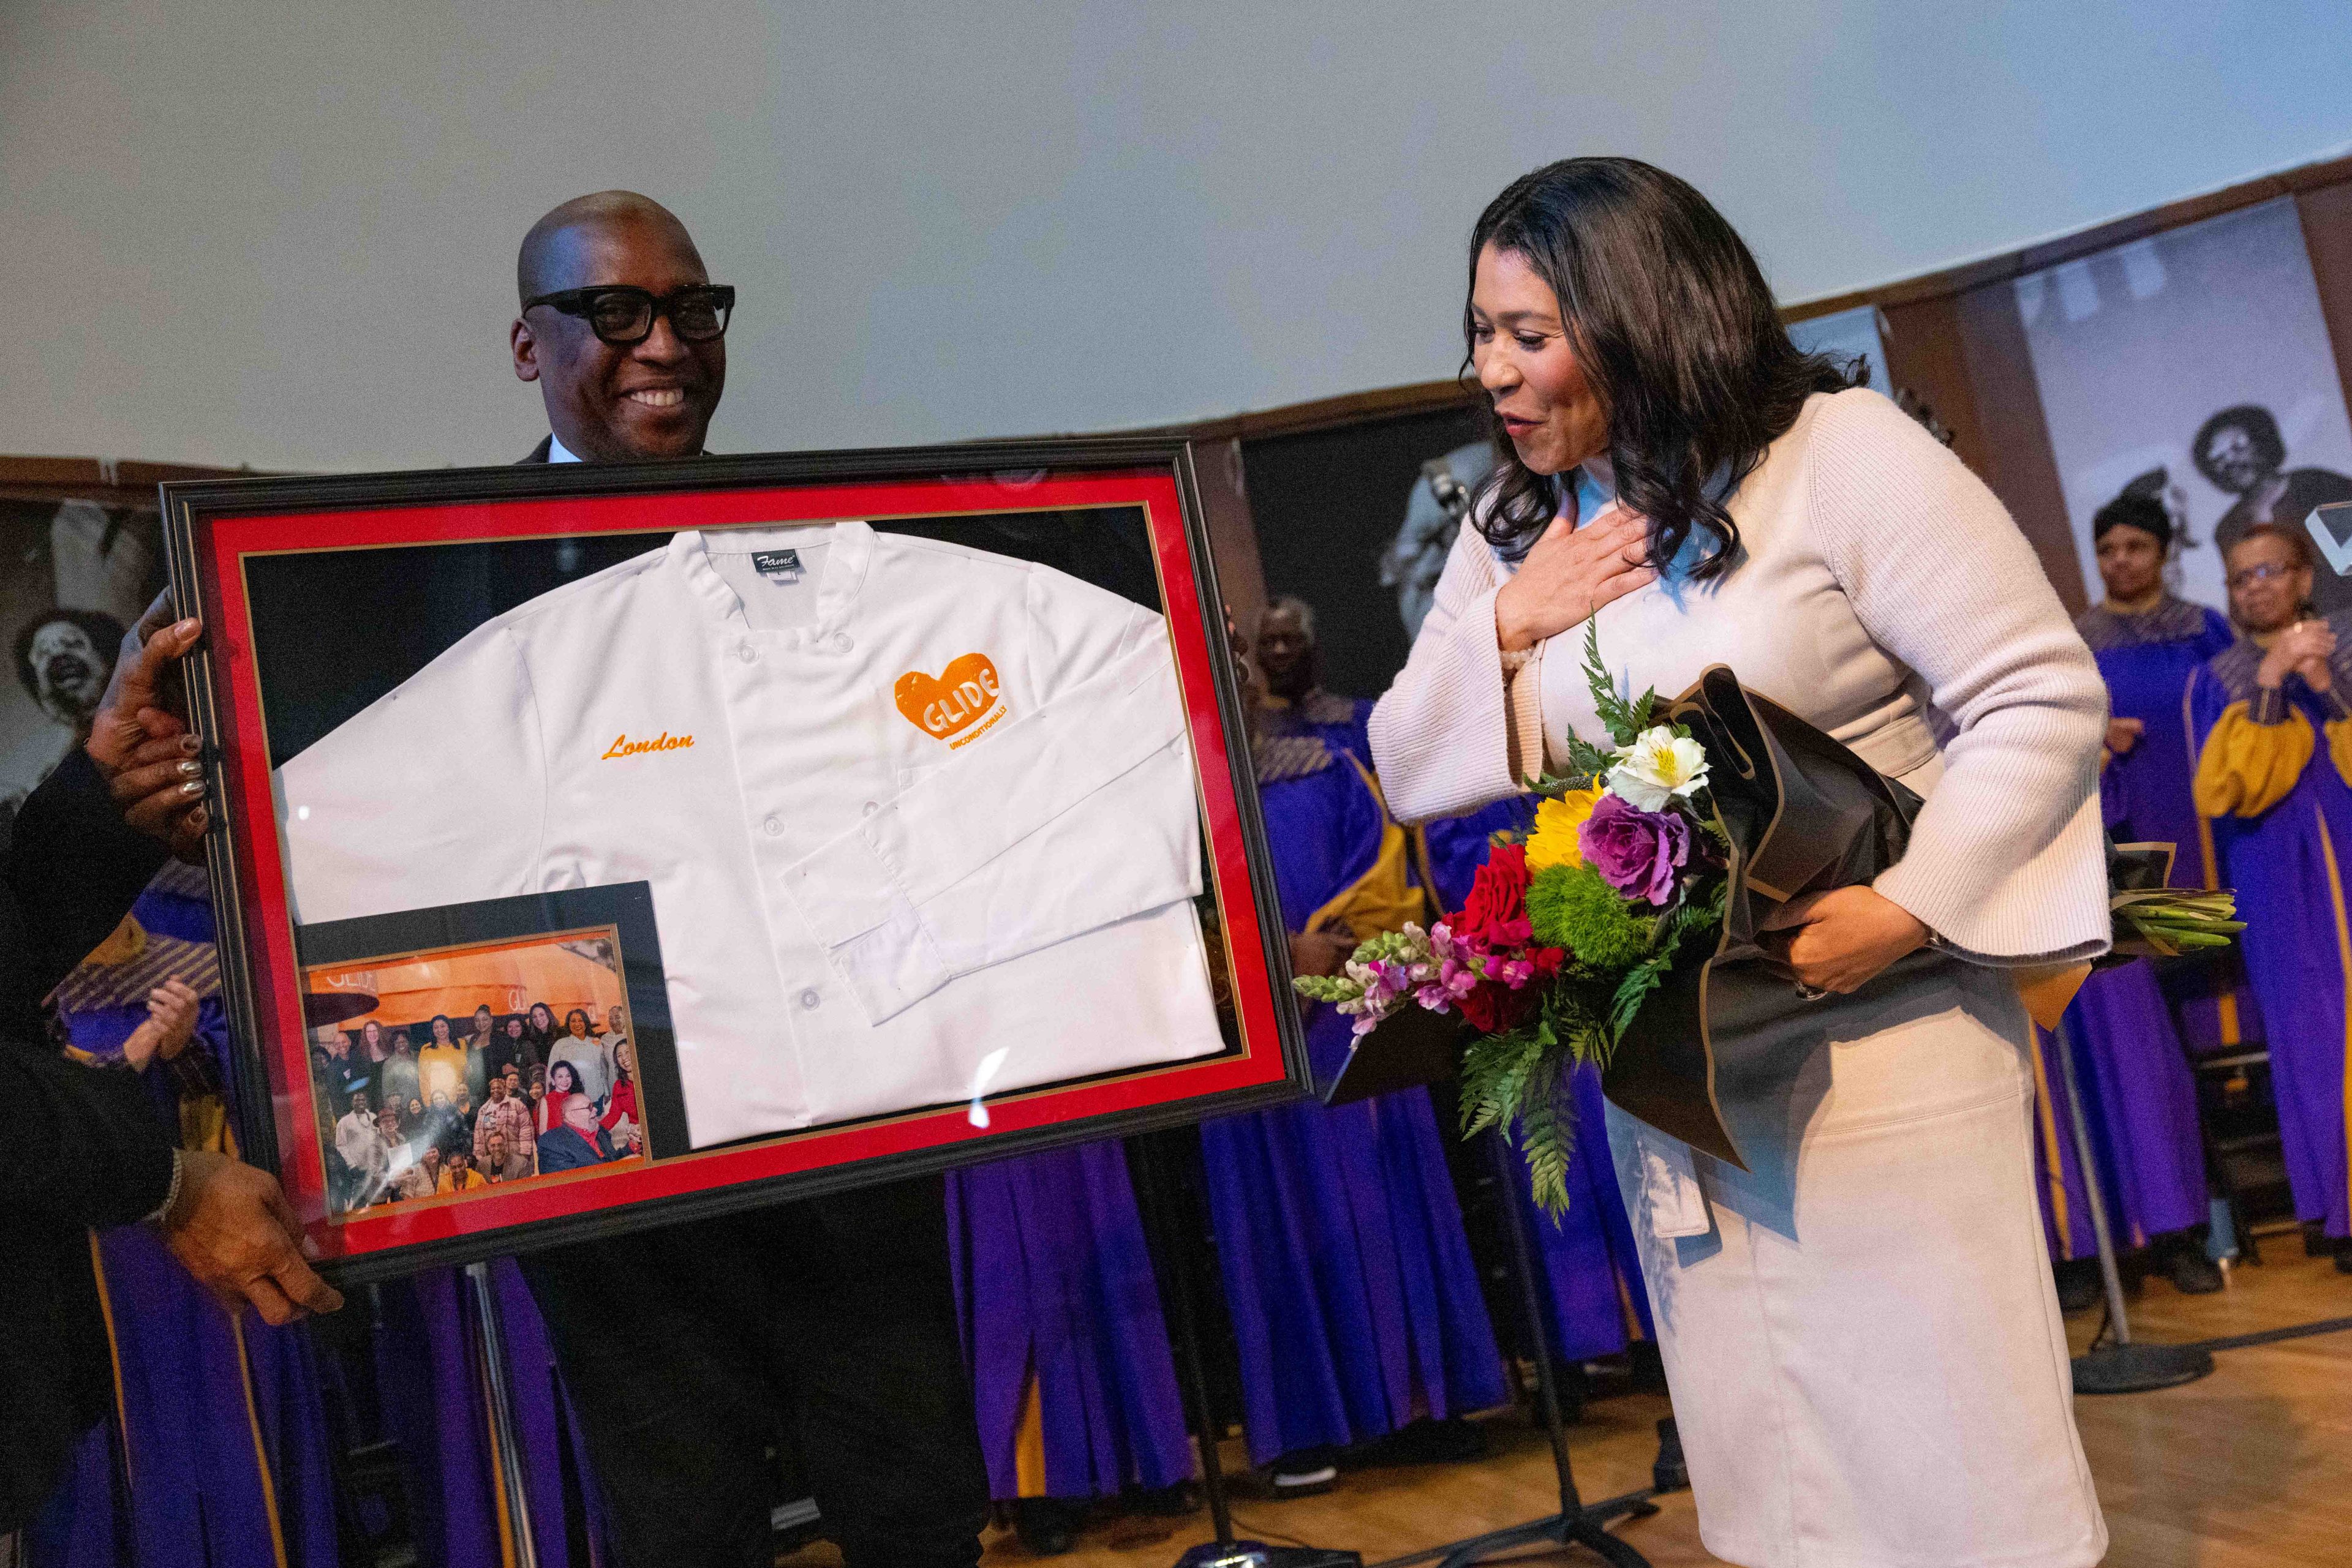
{"label": "white chef coat with orange London and GLIDE heart, framed", "polygon": [[696,1147],[1223,1044],[1167,625],[1047,567],[677,534],[475,628],[278,790],[306,924],[649,882]]}

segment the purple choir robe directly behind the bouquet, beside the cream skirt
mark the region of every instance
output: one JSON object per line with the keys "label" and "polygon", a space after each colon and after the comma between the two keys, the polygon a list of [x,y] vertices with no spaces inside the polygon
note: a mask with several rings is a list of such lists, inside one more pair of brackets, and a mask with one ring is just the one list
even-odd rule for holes
{"label": "purple choir robe directly behind the bouquet, beside the cream skirt", "polygon": [[[1444,910],[1463,907],[1470,882],[1486,858],[1494,832],[1526,832],[1536,820],[1534,797],[1498,799],[1465,816],[1446,816],[1421,825],[1428,853],[1430,886]],[[1625,1194],[1618,1192],[1609,1161],[1609,1124],[1602,1112],[1602,1079],[1592,1067],[1578,1067],[1569,1091],[1576,1107],[1576,1150],[1569,1154],[1569,1211],[1557,1220],[1536,1204],[1526,1161],[1512,1157],[1512,1190],[1519,1225],[1541,1274],[1538,1295],[1545,1305],[1545,1340],[1566,1361],[1609,1356],[1632,1340],[1653,1338],[1649,1288],[1642,1284],[1642,1258],[1635,1253],[1632,1225],[1625,1218]]]}

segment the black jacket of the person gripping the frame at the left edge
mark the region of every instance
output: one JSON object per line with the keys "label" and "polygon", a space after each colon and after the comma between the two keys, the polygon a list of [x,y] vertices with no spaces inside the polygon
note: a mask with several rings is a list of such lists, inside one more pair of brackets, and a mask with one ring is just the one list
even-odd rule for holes
{"label": "black jacket of the person gripping the frame at the left edge", "polygon": [[132,832],[75,748],[24,802],[0,872],[0,1533],[56,1486],[113,1403],[92,1227],[153,1211],[172,1133],[122,1067],[64,1060],[40,999],[132,907],[165,846]]}

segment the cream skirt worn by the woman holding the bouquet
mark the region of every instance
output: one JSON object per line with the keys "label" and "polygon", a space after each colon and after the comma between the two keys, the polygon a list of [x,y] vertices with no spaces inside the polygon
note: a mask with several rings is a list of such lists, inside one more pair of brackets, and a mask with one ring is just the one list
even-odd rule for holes
{"label": "cream skirt worn by the woman holding the bouquet", "polygon": [[1780,1091],[1724,1105],[1750,1171],[1609,1107],[1708,1552],[2105,1554],[2034,1199],[2027,1030],[2006,976],[1964,964],[1823,1001],[1750,1041],[1788,1065]]}

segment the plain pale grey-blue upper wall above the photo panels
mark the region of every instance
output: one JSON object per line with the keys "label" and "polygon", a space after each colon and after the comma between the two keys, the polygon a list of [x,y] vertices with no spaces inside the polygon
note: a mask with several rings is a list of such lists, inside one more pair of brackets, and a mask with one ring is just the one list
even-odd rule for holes
{"label": "plain pale grey-blue upper wall above the photo panels", "polygon": [[602,186],[743,289],[720,449],[1270,407],[1451,374],[1550,158],[1799,301],[2328,155],[2347,59],[2340,0],[9,0],[0,451],[510,458],[515,242]]}

